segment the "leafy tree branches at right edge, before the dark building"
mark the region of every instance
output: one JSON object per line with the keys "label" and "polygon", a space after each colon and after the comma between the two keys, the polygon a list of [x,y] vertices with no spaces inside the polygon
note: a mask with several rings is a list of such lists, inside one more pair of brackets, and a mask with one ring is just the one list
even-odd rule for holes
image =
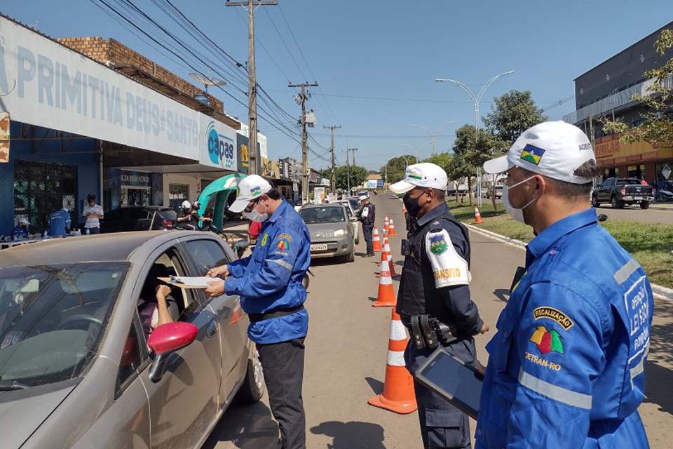
{"label": "leafy tree branches at right edge, before the dark building", "polygon": [[[654,47],[661,56],[673,48],[673,30],[665,29],[659,35]],[[652,145],[670,145],[673,143],[673,116],[670,114],[672,91],[664,84],[673,76],[673,58],[662,67],[644,73],[646,79],[654,79],[652,86],[647,88],[646,95],[634,95],[632,100],[642,102],[648,107],[641,113],[643,121],[630,127],[620,120],[604,120],[604,132],[620,134],[623,142],[639,142],[644,140]]]}

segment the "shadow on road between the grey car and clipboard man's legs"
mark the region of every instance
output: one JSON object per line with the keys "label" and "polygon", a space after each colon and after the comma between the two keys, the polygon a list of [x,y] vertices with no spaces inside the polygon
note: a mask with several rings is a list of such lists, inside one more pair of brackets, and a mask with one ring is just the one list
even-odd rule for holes
{"label": "shadow on road between the grey car and clipboard man's legs", "polygon": [[222,415],[201,449],[215,449],[225,441],[241,449],[276,449],[278,424],[262,402],[231,407]]}

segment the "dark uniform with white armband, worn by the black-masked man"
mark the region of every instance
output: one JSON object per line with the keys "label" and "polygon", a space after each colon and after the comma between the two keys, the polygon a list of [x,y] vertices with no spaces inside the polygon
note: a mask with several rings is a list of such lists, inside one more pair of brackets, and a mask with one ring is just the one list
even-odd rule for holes
{"label": "dark uniform with white armband, worn by the black-masked man", "polygon": [[[469,262],[468,231],[445,204],[420,217],[408,234],[397,313],[410,332],[411,317],[423,314],[450,326],[457,340],[447,345],[447,351],[472,362],[476,359],[473,335],[483,322],[470,299]],[[409,341],[405,362],[412,375],[433,351],[416,349],[413,339]],[[423,446],[470,448],[468,416],[421,384],[414,382],[414,387]]]}

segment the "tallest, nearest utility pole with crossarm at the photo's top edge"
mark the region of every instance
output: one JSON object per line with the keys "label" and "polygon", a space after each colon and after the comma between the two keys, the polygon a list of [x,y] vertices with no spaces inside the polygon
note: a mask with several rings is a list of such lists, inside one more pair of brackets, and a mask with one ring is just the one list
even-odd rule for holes
{"label": "tallest, nearest utility pole with crossarm at the photo's top edge", "polygon": [[247,74],[249,77],[247,119],[250,126],[248,133],[248,145],[250,147],[250,163],[247,166],[248,175],[259,175],[259,164],[257,163],[257,76],[254,64],[254,8],[256,6],[273,6],[277,4],[278,1],[276,0],[226,0],[226,6],[247,7]]}

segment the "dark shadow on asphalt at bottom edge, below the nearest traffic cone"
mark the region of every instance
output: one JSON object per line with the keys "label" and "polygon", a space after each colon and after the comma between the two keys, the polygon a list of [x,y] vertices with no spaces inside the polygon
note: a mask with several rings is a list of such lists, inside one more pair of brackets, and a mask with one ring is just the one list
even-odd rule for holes
{"label": "dark shadow on asphalt at bottom edge, below the nearest traffic cone", "polygon": [[371,422],[327,421],[311,427],[311,433],[334,438],[328,449],[386,449],[383,427]]}

